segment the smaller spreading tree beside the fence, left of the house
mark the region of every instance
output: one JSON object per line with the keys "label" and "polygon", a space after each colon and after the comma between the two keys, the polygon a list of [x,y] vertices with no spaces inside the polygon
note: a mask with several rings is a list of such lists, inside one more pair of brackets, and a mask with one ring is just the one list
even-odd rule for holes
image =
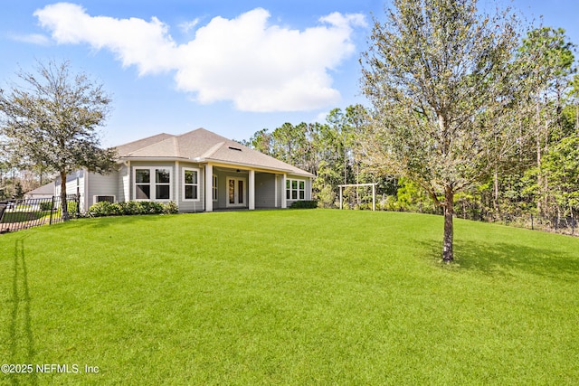
{"label": "smaller spreading tree beside the fence, left of the house", "polygon": [[107,173],[115,153],[100,147],[97,127],[109,113],[111,99],[71,63],[38,63],[36,73],[20,71],[21,85],[0,90],[0,130],[6,147],[21,165],[37,165],[61,177],[62,217],[67,220],[66,176],[86,168]]}

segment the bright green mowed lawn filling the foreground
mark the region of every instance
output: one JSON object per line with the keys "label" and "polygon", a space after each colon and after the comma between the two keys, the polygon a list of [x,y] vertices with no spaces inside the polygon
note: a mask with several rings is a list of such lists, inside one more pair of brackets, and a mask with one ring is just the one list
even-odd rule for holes
{"label": "bright green mowed lawn filling the foreground", "polygon": [[441,232],[287,210],[1,235],[0,362],[82,373],[0,384],[578,384],[579,239],[457,220],[445,266]]}

